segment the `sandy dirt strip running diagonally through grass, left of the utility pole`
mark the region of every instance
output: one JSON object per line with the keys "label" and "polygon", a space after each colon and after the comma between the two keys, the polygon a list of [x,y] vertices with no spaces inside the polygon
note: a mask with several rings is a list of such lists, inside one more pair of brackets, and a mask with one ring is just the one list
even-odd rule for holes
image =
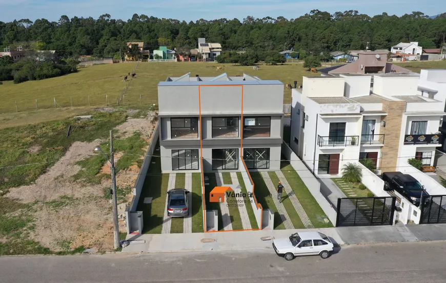
{"label": "sandy dirt strip running diagonally through grass, left of the utility pole", "polygon": [[22,203],[32,201],[49,201],[63,195],[82,196],[85,192],[82,186],[71,180],[81,168],[76,165],[77,161],[84,160],[94,154],[94,148],[101,143],[96,139],[91,143],[76,141],[48,172],[40,175],[34,184],[12,188],[6,195],[17,199]]}

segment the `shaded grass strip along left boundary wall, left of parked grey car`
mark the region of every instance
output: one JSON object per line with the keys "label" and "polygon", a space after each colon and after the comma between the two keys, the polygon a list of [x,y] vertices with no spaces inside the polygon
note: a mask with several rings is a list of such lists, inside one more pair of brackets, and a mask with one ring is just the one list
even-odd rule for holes
{"label": "shaded grass strip along left boundary wall, left of parked grey car", "polygon": [[[159,141],[156,148],[159,148]],[[136,208],[137,211],[143,211],[143,233],[161,234],[168,183],[169,174],[161,174],[161,158],[153,156]],[[144,204],[145,197],[152,197],[152,203]]]}

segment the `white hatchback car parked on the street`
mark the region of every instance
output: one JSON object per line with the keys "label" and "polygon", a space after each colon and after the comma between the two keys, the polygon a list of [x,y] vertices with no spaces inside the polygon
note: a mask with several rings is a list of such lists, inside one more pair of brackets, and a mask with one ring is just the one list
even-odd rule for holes
{"label": "white hatchback car parked on the street", "polygon": [[333,252],[333,243],[319,232],[299,232],[289,238],[273,240],[273,248],[277,255],[292,260],[299,255],[320,255],[327,258]]}

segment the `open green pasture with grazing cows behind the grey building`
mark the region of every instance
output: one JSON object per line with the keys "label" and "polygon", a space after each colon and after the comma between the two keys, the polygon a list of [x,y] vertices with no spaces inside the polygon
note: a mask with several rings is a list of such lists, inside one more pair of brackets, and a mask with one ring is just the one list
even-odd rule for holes
{"label": "open green pasture with grazing cows behind the grey building", "polygon": [[[307,72],[302,64],[284,64],[279,66],[260,65],[258,71],[253,71],[249,66],[231,66],[230,64],[197,63],[197,62],[151,62],[140,63],[136,69],[137,77],[130,82],[123,82],[123,77],[132,72],[135,63],[96,65],[80,68],[77,73],[65,76],[34,80],[22,84],[4,82],[0,85],[0,113],[15,112],[15,102],[19,112],[36,109],[54,108],[54,98],[61,107],[70,107],[71,99],[73,107],[105,106],[106,95],[112,105],[116,105],[119,94],[128,88],[121,105],[138,106],[141,104],[156,104],[158,101],[157,85],[166,80],[168,76],[181,76],[188,72],[191,75],[217,76],[221,71],[216,66],[224,66],[224,72],[229,75],[241,75],[247,73],[259,76],[261,79],[279,79],[284,84],[293,84],[297,80],[302,84],[303,75],[319,75]],[[291,90],[285,90],[284,103],[291,103]],[[141,95],[141,101],[140,99]],[[59,108],[59,106],[57,106]]]}

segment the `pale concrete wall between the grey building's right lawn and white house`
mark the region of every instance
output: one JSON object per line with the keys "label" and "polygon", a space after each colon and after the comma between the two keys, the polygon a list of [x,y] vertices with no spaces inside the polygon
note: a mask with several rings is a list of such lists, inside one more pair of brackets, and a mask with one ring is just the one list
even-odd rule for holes
{"label": "pale concrete wall between the grey building's right lawn and white house", "polygon": [[320,183],[315,176],[303,164],[302,160],[293,152],[293,150],[285,143],[282,143],[282,154],[285,159],[290,160],[290,164],[296,170],[303,183],[307,186],[310,193],[316,199],[320,208],[325,212],[333,226],[336,225],[336,210],[331,207],[328,200],[320,193]]}

